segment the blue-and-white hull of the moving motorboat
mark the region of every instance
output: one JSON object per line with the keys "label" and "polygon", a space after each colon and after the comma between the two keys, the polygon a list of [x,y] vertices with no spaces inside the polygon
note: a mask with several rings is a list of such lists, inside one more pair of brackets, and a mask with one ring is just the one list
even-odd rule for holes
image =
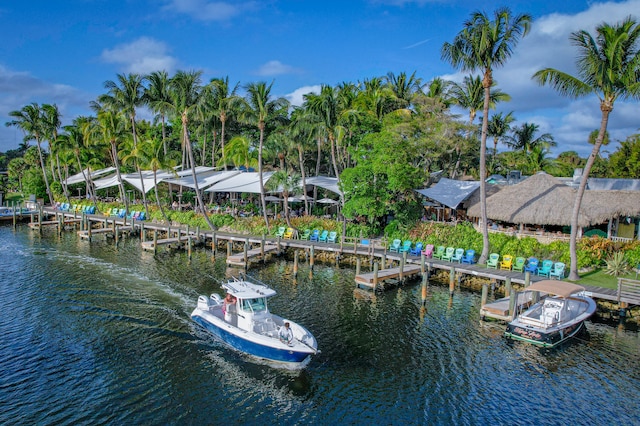
{"label": "blue-and-white hull of the moving motorboat", "polygon": [[194,310],[191,318],[228,346],[257,358],[297,364],[316,353],[301,343],[290,347],[277,339],[261,339],[255,333],[239,330],[200,309]]}

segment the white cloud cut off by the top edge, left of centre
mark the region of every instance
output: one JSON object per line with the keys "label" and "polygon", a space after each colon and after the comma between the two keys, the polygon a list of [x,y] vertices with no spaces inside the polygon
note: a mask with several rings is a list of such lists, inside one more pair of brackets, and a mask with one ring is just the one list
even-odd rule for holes
{"label": "white cloud cut off by the top edge, left of centre", "polygon": [[170,12],[178,12],[199,21],[228,21],[247,10],[255,10],[258,3],[249,2],[224,2],[207,0],[171,0],[164,9]]}

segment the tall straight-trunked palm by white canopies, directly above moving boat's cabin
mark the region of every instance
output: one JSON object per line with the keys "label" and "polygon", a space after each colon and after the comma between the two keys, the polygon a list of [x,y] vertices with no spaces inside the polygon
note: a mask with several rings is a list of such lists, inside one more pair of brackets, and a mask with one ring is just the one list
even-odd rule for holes
{"label": "tall straight-trunked palm by white canopies, directly above moving boat's cabin", "polygon": [[243,119],[245,122],[258,127],[260,139],[258,145],[258,176],[260,179],[260,201],[262,204],[262,213],[264,222],[269,231],[269,218],[267,216],[267,203],[264,193],[264,179],[262,166],[262,153],[264,150],[264,136],[267,122],[282,121],[286,118],[289,102],[284,98],[273,99],[271,97],[271,88],[273,82],[269,85],[265,82],[250,83],[247,85],[247,108],[245,108]]}

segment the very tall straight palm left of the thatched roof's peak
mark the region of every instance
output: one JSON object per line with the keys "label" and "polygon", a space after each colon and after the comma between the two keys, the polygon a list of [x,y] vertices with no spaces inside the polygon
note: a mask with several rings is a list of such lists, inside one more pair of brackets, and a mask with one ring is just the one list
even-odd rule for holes
{"label": "very tall straight palm left of the thatched roof's peak", "polygon": [[474,12],[464,23],[464,28],[453,40],[442,46],[442,58],[463,71],[480,70],[483,72],[484,104],[482,115],[482,133],[480,137],[480,216],[482,228],[482,253],[480,262],[489,255],[489,231],[487,229],[487,191],[486,191],[486,143],[491,104],[491,86],[493,69],[503,66],[513,53],[513,49],[529,32],[532,18],[530,15],[512,15],[508,8],[494,12],[493,20],[482,12]]}

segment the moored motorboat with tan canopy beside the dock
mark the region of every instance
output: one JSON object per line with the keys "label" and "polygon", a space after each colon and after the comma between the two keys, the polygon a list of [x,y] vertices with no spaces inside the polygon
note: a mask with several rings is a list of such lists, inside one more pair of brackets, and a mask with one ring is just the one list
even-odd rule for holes
{"label": "moored motorboat with tan canopy beside the dock", "polygon": [[531,284],[527,291],[546,293],[507,325],[505,335],[535,345],[553,347],[575,336],[596,311],[596,302],[583,295],[584,287],[555,280]]}

